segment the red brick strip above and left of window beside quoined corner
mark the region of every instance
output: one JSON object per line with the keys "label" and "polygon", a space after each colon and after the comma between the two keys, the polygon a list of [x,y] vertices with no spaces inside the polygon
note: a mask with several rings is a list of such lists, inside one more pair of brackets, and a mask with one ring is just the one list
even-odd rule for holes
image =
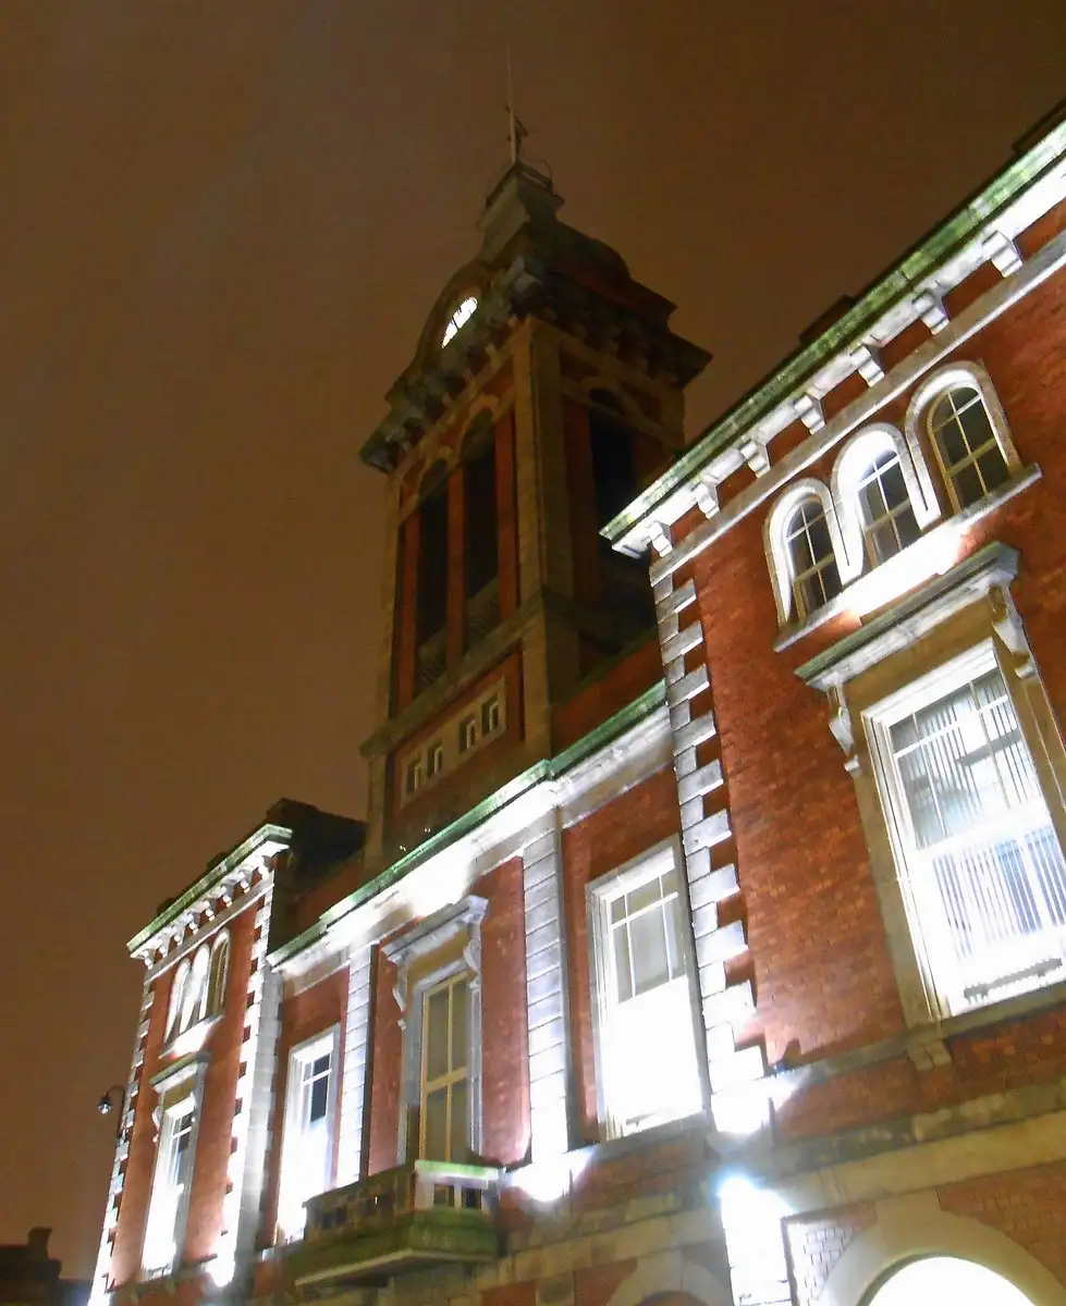
{"label": "red brick strip above and left of window beside quoined corner", "polygon": [[592,1038],[585,885],[677,835],[681,815],[674,773],[664,768],[563,832],[563,897],[568,948],[571,1038],[583,1141],[600,1135]]}

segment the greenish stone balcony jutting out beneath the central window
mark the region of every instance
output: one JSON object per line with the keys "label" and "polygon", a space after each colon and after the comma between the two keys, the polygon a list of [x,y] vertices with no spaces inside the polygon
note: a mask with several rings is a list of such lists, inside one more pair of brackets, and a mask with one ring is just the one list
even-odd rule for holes
{"label": "greenish stone balcony jutting out beneath the central window", "polygon": [[303,1241],[287,1254],[297,1286],[340,1290],[495,1260],[498,1182],[487,1166],[412,1161],[312,1198]]}

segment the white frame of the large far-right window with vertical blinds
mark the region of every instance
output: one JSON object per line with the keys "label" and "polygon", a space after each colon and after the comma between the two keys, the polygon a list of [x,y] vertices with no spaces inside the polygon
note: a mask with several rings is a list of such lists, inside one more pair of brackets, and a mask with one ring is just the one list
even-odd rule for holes
{"label": "white frame of the large far-right window with vertical blinds", "polygon": [[1032,754],[1026,731],[1022,705],[1018,703],[1012,690],[1014,677],[1010,669],[1003,666],[1002,660],[997,653],[994,640],[982,640],[980,644],[920,677],[917,680],[912,680],[907,686],[895,690],[862,712],[878,797],[880,799],[882,812],[888,831],[891,853],[896,867],[896,882],[903,899],[904,912],[909,927],[911,944],[917,961],[921,982],[925,989],[929,1012],[934,1019],[947,1019],[948,1016],[960,1015],[965,1011],[973,1011],[978,1007],[992,1006],[1005,998],[1020,995],[1023,993],[1032,993],[1044,987],[1048,982],[1066,978],[1066,938],[1063,938],[1062,961],[1059,965],[1049,964],[1049,969],[1046,970],[1046,974],[1050,977],[1049,980],[1044,980],[1042,976],[1036,976],[1035,983],[1026,985],[1015,982],[1011,985],[1009,977],[1001,977],[998,981],[994,980],[989,983],[986,993],[978,1000],[960,1000],[958,995],[947,993],[939,982],[938,964],[935,957],[930,955],[931,949],[928,942],[928,931],[922,929],[922,913],[918,908],[917,896],[912,884],[912,874],[908,861],[911,853],[911,838],[908,833],[911,818],[905,795],[903,794],[899,781],[897,769],[891,755],[888,731],[896,721],[908,716],[911,712],[921,710],[924,707],[928,707],[929,704],[952,693],[967,680],[978,678],[992,670],[998,670],[1003,678],[1007,697],[1011,703],[1015,717],[1018,718],[1022,742],[1029,756],[1029,764],[1032,765],[1036,784],[1040,788],[1044,803],[1048,807],[1049,823],[1056,833],[1056,837],[1059,838],[1059,823],[1056,820],[1053,808],[1054,795],[1049,795],[1044,788],[1040,761]]}

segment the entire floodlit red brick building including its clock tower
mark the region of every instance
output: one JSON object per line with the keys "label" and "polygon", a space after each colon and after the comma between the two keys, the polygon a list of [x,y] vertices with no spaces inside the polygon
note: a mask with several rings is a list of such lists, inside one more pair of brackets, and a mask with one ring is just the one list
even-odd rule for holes
{"label": "entire floodlit red brick building including its clock tower", "polygon": [[690,444],[559,204],[363,445],[366,821],[131,943],[95,1293],[1066,1306],[1066,123]]}

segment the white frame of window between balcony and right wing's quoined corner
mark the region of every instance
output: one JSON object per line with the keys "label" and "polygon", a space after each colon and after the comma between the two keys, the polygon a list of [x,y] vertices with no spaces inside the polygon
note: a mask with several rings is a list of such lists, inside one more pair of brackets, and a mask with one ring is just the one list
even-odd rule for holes
{"label": "white frame of window between balcony and right wing's quoined corner", "polygon": [[[673,871],[677,882],[677,892],[682,912],[681,930],[681,960],[682,972],[668,983],[685,982],[687,989],[687,1010],[692,1036],[692,1063],[691,1083],[682,1089],[677,1101],[671,1105],[662,1104],[662,1109],[640,1122],[626,1121],[621,1111],[621,1100],[615,1085],[617,1055],[613,1049],[615,1038],[619,1037],[619,1020],[617,1017],[617,986],[614,977],[614,951],[610,936],[610,906],[623,893],[632,892],[654,876]],[[610,871],[607,875],[593,880],[585,891],[588,921],[589,921],[589,978],[592,986],[592,1015],[593,1015],[593,1045],[596,1055],[596,1097],[600,1123],[606,1138],[622,1138],[630,1134],[639,1134],[645,1128],[657,1124],[666,1124],[670,1121],[685,1119],[699,1114],[704,1109],[705,1097],[705,1042],[699,1012],[699,980],[696,974],[695,956],[691,940],[691,914],[688,909],[688,895],[685,880],[685,862],[681,848],[675,838],[665,840],[656,848],[648,849],[624,866]],[[654,991],[654,990],[653,990]],[[661,1067],[657,1067],[661,1071]],[[671,1076],[657,1074],[657,1079],[666,1084],[677,1083]]]}

